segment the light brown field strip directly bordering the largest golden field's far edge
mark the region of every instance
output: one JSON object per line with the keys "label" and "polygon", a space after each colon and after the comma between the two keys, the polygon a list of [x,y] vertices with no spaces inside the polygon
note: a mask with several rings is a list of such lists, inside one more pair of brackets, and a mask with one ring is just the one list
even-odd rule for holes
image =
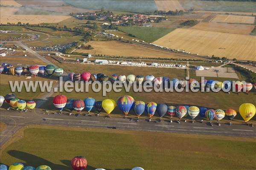
{"label": "light brown field strip directly bordering the largest golden field's far edge", "polygon": [[248,35],[253,30],[254,26],[230,23],[201,22],[191,28],[206,31],[219,31],[225,33]]}

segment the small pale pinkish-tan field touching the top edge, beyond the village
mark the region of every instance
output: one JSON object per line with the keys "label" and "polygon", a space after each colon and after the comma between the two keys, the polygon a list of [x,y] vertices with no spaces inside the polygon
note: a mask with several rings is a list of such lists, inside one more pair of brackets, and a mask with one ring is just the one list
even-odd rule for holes
{"label": "small pale pinkish-tan field touching the top edge, beyond the village", "polygon": [[184,10],[178,0],[155,0],[158,11]]}

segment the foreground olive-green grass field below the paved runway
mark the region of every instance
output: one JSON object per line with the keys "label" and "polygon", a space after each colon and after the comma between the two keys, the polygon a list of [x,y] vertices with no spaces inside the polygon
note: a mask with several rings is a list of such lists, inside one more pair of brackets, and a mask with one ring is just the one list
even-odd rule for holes
{"label": "foreground olive-green grass field below the paved runway", "polygon": [[81,155],[87,170],[255,169],[255,140],[249,138],[46,126],[18,133],[24,137],[2,151],[1,163],[70,170],[70,160]]}

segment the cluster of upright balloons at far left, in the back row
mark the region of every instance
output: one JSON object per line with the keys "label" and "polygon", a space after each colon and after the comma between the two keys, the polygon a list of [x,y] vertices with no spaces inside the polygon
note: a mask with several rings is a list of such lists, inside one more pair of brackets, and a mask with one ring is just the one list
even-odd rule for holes
{"label": "cluster of upright balloons at far left, in the back row", "polygon": [[1,74],[9,73],[12,75],[17,74],[18,76],[20,76],[21,74],[29,75],[30,73],[34,77],[36,77],[38,73],[41,74],[42,76],[44,76],[45,73],[47,73],[49,76],[54,74],[55,76],[60,77],[63,74],[63,69],[55,68],[54,65],[47,65],[47,66],[30,65],[30,66],[23,66],[23,67],[20,67],[20,66],[14,67],[13,65],[10,65],[4,62],[0,66],[0,73]]}

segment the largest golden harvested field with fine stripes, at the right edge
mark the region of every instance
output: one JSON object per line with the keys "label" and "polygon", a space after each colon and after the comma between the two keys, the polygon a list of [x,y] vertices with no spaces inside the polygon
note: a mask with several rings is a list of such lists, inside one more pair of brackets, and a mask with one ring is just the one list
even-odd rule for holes
{"label": "largest golden harvested field with fine stripes, at the right edge", "polygon": [[178,28],[153,42],[192,54],[256,61],[256,37],[191,28]]}

